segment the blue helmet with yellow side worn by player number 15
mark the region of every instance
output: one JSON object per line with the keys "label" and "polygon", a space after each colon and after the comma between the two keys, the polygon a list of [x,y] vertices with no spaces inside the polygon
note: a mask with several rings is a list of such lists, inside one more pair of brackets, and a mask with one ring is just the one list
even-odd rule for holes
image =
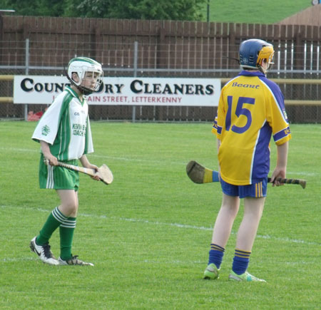
{"label": "blue helmet with yellow side worn by player number 15", "polygon": [[[257,69],[266,73],[272,63],[274,49],[272,44],[253,38],[240,44],[240,67],[243,69]],[[267,69],[262,68],[263,61],[267,61]]]}

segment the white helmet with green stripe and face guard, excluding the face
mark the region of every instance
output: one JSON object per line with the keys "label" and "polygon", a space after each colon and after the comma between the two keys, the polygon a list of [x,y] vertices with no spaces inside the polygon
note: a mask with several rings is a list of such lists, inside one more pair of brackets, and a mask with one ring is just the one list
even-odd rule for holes
{"label": "white helmet with green stripe and face guard, excluding the face", "polygon": [[[96,83],[93,88],[87,88],[81,85],[87,72],[98,73]],[[73,73],[77,73],[79,81],[73,80]],[[98,91],[101,83],[103,83],[103,69],[101,68],[100,63],[91,58],[76,57],[71,59],[68,63],[67,77],[68,80],[71,81],[71,83],[76,86],[81,93],[83,93],[83,95],[90,95],[94,91]]]}

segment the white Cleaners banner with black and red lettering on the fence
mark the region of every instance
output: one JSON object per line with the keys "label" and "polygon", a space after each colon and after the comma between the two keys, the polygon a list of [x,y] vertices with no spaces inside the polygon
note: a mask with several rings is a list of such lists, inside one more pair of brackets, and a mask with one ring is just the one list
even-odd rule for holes
{"label": "white Cleaners banner with black and red lettering on the fence", "polygon": [[[52,103],[70,85],[64,76],[14,76],[14,103]],[[217,106],[219,78],[103,78],[93,105]]]}

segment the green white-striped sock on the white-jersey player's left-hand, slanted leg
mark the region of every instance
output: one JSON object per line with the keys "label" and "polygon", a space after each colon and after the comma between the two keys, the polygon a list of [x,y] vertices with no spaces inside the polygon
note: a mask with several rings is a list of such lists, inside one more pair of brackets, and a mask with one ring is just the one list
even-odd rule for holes
{"label": "green white-striped sock on the white-jersey player's left-hand, slanted leg", "polygon": [[65,221],[67,217],[65,217],[56,207],[52,210],[51,214],[46,220],[46,223],[41,228],[39,235],[36,238],[36,244],[46,244],[49,242],[51,234],[58,228],[58,226]]}

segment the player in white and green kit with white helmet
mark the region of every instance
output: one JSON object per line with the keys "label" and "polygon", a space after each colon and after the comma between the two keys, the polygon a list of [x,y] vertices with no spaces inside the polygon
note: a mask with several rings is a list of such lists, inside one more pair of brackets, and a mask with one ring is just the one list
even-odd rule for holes
{"label": "player in white and green kit with white helmet", "polygon": [[[98,91],[102,83],[101,64],[87,57],[76,57],[68,63],[66,72],[71,86],[58,95],[39,120],[32,139],[41,145],[39,163],[40,188],[56,190],[61,203],[47,218],[39,234],[30,242],[31,251],[42,262],[51,265],[90,265],[71,254],[73,231],[78,212],[78,171],[57,165],[58,161],[98,170],[88,161],[93,153],[91,127],[86,95]],[[99,180],[98,176],[93,177]],[[59,227],[60,257],[51,252],[49,239]]]}

